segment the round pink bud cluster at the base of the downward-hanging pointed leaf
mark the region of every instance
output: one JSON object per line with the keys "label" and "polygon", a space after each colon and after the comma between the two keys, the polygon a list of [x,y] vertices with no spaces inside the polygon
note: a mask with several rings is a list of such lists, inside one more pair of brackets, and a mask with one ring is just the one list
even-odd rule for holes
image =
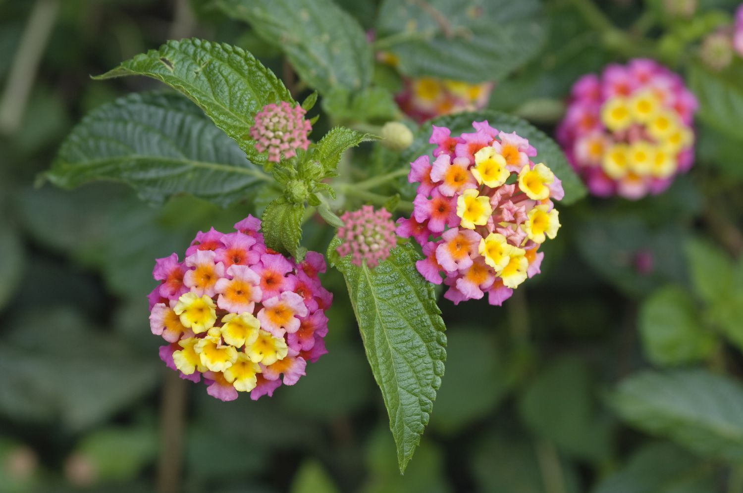
{"label": "round pink bud cluster at the base of the downward-hanging pointed leaf", "polygon": [[343,243],[336,249],[338,255],[351,255],[351,264],[361,267],[377,267],[389,257],[389,252],[398,244],[392,215],[382,208],[374,211],[371,206],[362,206],[340,217],[343,227],[338,229],[338,238]]}

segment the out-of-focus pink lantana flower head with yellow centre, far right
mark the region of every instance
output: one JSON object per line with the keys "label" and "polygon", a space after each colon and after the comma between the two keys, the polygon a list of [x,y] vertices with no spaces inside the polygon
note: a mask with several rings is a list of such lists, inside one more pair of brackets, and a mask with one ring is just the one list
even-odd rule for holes
{"label": "out-of-focus pink lantana flower head with yellow centre, far right", "polygon": [[637,199],[692,166],[696,108],[680,76],[633,59],[578,79],[557,140],[591,193]]}

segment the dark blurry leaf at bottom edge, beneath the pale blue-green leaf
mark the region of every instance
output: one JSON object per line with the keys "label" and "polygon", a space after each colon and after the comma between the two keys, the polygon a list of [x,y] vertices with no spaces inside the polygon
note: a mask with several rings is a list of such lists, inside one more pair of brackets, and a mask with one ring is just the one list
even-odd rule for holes
{"label": "dark blurry leaf at bottom edge, beneath the pale blue-green leaf", "polygon": [[713,469],[669,443],[650,443],[593,493],[710,493],[718,491]]}

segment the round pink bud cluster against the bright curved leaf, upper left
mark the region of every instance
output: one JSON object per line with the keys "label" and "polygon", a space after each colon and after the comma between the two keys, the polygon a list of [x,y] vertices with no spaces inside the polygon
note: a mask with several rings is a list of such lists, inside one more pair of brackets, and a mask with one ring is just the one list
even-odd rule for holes
{"label": "round pink bud cluster against the bright curved leaf, upper left", "polygon": [[268,151],[268,160],[278,163],[281,154],[285,159],[296,156],[296,149],[305,151],[310,145],[307,139],[312,130],[306,111],[300,105],[292,107],[282,101],[278,105],[265,105],[256,114],[256,123],[250,127],[250,137],[256,141],[259,152]]}

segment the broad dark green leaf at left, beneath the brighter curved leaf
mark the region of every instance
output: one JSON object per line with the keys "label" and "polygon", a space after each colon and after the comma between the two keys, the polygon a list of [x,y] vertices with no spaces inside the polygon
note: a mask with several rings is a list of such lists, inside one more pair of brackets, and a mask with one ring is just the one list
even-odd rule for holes
{"label": "broad dark green leaf at left, beneath the brighter curved leaf", "polygon": [[227,205],[271,178],[178,94],[132,94],[74,128],[47,176],[70,188],[123,181],[146,200],[189,193]]}

